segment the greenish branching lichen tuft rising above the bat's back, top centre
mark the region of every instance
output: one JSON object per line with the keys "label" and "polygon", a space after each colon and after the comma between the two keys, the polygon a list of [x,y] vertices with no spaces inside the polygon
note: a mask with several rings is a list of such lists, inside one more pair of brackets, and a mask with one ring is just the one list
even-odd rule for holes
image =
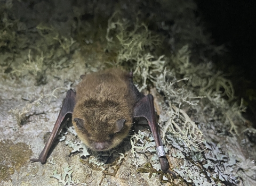
{"label": "greenish branching lichen tuft rising above the bat's back, top centre", "polygon": [[[161,40],[144,23],[139,23],[138,19],[132,24],[128,20],[116,18],[117,14],[114,13],[108,21],[106,39],[110,48],[118,48],[116,64],[132,67],[135,77],[141,78],[142,87],[139,90],[145,89],[148,86],[147,80],[155,82],[156,74],[162,72],[165,64],[164,55],[155,57],[150,54],[151,50],[161,44]],[[118,42],[114,42],[113,35]]]}

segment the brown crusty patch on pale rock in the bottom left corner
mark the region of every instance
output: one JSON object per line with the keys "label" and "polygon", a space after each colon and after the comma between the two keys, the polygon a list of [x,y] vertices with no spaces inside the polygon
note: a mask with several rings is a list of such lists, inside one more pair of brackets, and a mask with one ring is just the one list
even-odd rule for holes
{"label": "brown crusty patch on pale rock in the bottom left corner", "polygon": [[26,143],[16,143],[6,140],[0,142],[0,180],[10,180],[14,171],[20,171],[22,165],[28,162],[32,151]]}

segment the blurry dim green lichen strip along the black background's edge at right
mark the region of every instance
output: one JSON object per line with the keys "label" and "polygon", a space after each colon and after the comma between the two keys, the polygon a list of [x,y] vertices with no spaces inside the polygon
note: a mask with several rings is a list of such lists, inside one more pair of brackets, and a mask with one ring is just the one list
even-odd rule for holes
{"label": "blurry dim green lichen strip along the black background's edge at right", "polygon": [[[211,62],[194,65],[190,62],[190,55],[189,47],[186,45],[171,58],[175,73],[187,78],[190,94],[194,92],[201,98],[209,99],[209,106],[205,105],[205,109],[214,105],[225,116],[223,117],[225,118],[223,123],[230,125],[229,132],[233,133],[235,131],[238,134],[236,123],[244,121],[241,112],[245,111],[245,107],[243,102],[239,106],[237,106],[237,103],[231,107],[229,106],[235,98],[233,84],[225,78],[225,74],[220,71],[216,72]],[[215,110],[213,109],[212,112],[214,115]]]}

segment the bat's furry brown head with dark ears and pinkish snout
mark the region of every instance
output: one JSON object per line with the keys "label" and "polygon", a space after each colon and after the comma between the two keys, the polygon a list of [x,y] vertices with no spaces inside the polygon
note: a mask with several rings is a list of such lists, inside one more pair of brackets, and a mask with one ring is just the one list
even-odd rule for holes
{"label": "bat's furry brown head with dark ears and pinkish snout", "polygon": [[127,136],[132,126],[132,114],[133,104],[110,99],[87,99],[76,104],[73,125],[87,147],[106,151]]}

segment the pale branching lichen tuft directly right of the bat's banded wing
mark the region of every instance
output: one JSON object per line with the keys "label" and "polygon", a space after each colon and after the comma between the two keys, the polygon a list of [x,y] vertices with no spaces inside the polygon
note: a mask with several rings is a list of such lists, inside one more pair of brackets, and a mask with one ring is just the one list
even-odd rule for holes
{"label": "pale branching lichen tuft directly right of the bat's banded wing", "polygon": [[177,137],[182,139],[188,148],[193,147],[196,151],[200,151],[199,144],[204,140],[203,132],[180,107],[182,104],[196,105],[202,97],[195,96],[184,86],[175,87],[175,84],[184,80],[187,79],[177,80],[174,73],[166,69],[157,79],[157,89],[165,93],[170,106],[165,111],[169,119],[164,126],[162,139],[165,141],[165,136]]}

